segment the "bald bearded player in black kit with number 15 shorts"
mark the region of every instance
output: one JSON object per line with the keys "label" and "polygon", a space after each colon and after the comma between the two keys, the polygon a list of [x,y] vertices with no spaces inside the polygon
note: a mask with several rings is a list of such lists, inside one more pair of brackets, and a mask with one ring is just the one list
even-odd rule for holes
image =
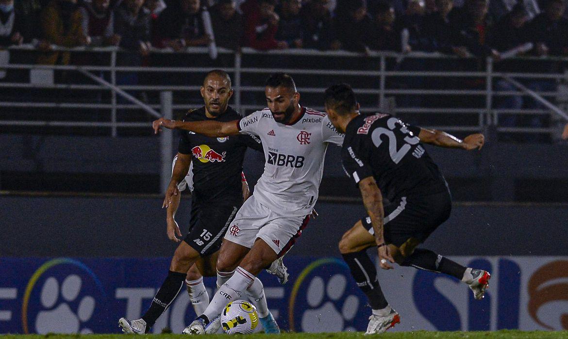
{"label": "bald bearded player in black kit with number 15 shorts", "polygon": [[[184,121],[233,121],[241,118],[228,101],[233,94],[231,78],[222,70],[207,73],[201,87],[204,107],[190,111]],[[169,273],[154,297],[148,311],[141,319],[121,318],[119,325],[126,333],[148,333],[158,317],[165,312],[183,287],[187,271],[202,257],[219,251],[227,227],[243,204],[243,160],[247,147],[262,150],[260,139],[251,135],[232,135],[212,138],[183,131],[179,138],[177,161],[172,180],[166,190],[164,204],[168,208],[179,194],[178,184],[193,164],[193,194],[189,233],[174,253]],[[179,228],[168,224],[168,235],[181,236]],[[171,239],[171,237],[170,237]],[[223,278],[233,272],[218,272]],[[274,318],[266,306],[264,289],[250,291],[250,298],[257,308],[263,308]],[[207,300],[208,302],[208,300]],[[261,319],[263,321],[263,319]],[[264,325],[264,323],[263,323]],[[275,328],[278,328],[277,326]]]}

